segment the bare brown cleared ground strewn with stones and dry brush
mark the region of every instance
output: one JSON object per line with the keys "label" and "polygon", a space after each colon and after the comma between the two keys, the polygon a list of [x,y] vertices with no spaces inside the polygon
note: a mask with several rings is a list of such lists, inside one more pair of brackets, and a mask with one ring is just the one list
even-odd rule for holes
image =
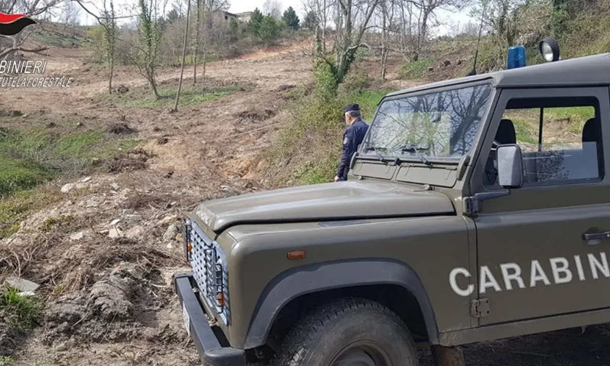
{"label": "bare brown cleared ground strewn with stones and dry brush", "polygon": [[[264,186],[256,176],[256,155],[268,146],[274,127],[290,118],[283,106],[286,91],[307,81],[310,63],[287,52],[213,63],[207,70],[213,82],[242,90],[168,113],[95,102],[91,98],[107,87],[106,70],[82,65],[75,52],[51,51],[48,66],[49,72],[73,76],[74,87],[2,90],[2,104],[31,114],[43,106],[58,118],[70,115],[92,124],[124,115],[152,156],[146,157],[145,170],[93,176],[80,190],[60,193],[67,182],[54,182],[60,202],[27,220],[25,228],[32,232],[1,243],[16,251],[37,248],[23,271],[50,293],[44,325],[16,346],[16,365],[196,365],[170,284],[171,273],[186,268],[172,224],[202,199]],[[162,70],[158,81],[178,74]],[[117,70],[115,81],[145,84],[126,68]],[[167,143],[159,145],[163,137]],[[37,231],[45,218],[67,214],[77,220],[53,235]],[[112,224],[116,219],[120,223]],[[115,227],[122,238],[108,237]],[[78,233],[82,239],[70,239]],[[52,293],[58,284],[63,291]],[[583,335],[570,330],[464,350],[470,366],[610,365],[603,342],[608,336],[606,328],[594,327]],[[432,365],[428,351],[420,356],[422,365]]]}

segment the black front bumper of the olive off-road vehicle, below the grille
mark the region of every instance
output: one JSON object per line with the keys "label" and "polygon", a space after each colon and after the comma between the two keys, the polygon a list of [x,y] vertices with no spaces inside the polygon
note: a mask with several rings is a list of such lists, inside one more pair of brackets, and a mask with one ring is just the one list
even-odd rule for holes
{"label": "black front bumper of the olive off-road vehicle, below the grille", "polygon": [[188,326],[195,347],[206,366],[245,366],[246,356],[244,350],[223,347],[220,345],[212,327],[207,321],[204,307],[193,292],[192,273],[181,273],[174,276],[174,286],[180,299],[184,315],[185,326]]}

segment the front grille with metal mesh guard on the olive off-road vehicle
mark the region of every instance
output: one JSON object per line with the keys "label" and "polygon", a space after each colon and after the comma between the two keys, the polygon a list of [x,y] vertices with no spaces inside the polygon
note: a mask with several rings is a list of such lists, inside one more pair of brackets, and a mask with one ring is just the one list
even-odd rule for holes
{"label": "front grille with metal mesh guard on the olive off-road vehicle", "polygon": [[[187,240],[190,240],[193,246],[189,261],[201,297],[216,310],[224,324],[229,325],[229,273],[224,251],[195,221],[190,224]],[[218,303],[219,294],[224,304]]]}

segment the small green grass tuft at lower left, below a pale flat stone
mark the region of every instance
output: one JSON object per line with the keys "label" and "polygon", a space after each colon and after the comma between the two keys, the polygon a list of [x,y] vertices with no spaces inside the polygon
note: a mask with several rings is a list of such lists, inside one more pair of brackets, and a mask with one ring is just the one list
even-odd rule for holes
{"label": "small green grass tuft at lower left, below a pale flat stone", "polygon": [[18,289],[8,287],[0,293],[0,312],[4,313],[13,331],[23,333],[34,326],[42,315],[44,304],[36,296],[22,296]]}

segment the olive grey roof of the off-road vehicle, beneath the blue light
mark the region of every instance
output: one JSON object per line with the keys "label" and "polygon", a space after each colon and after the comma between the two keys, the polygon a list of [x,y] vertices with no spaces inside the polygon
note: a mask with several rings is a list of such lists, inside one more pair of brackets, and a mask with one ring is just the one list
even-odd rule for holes
{"label": "olive grey roof of the off-road vehicle, beneath the blue light", "polygon": [[540,63],[511,70],[457,77],[455,79],[394,91],[387,96],[448,87],[467,82],[484,81],[486,79],[490,79],[493,87],[496,88],[610,85],[610,73],[608,73],[608,70],[610,70],[610,53],[604,53]]}

